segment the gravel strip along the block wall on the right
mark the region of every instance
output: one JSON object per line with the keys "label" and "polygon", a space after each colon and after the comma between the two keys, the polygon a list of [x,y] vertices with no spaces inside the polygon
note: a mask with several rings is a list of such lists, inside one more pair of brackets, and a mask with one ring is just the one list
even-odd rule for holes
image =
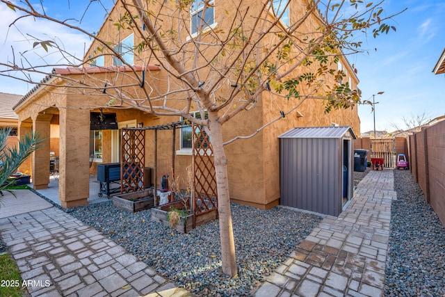
{"label": "gravel strip along the block wall on the right", "polygon": [[445,296],[445,228],[410,171],[394,170],[394,189],[385,296]]}

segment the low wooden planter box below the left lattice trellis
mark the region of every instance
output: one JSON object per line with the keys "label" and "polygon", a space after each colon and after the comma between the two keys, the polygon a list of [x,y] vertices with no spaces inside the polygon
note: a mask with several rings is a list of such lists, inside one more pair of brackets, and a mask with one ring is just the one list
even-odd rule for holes
{"label": "low wooden planter box below the left lattice trellis", "polygon": [[153,190],[147,189],[113,196],[113,206],[130,212],[150,209],[154,207]]}

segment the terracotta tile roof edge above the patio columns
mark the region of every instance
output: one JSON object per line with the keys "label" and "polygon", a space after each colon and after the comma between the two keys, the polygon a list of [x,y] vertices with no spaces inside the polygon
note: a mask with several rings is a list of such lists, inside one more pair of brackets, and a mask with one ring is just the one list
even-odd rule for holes
{"label": "terracotta tile roof edge above the patio columns", "polygon": [[159,65],[133,65],[129,67],[127,65],[123,66],[108,66],[108,67],[97,67],[97,66],[88,66],[88,67],[66,67],[66,68],[54,68],[51,71],[51,74],[48,74],[40,83],[35,85],[26,95],[22,97],[22,99],[13,106],[13,109],[17,109],[23,102],[26,101],[31,95],[36,93],[41,86],[45,86],[48,82],[54,77],[60,77],[64,75],[70,74],[95,74],[95,73],[110,73],[110,72],[130,72],[130,71],[142,71],[142,70],[161,70],[161,66]]}

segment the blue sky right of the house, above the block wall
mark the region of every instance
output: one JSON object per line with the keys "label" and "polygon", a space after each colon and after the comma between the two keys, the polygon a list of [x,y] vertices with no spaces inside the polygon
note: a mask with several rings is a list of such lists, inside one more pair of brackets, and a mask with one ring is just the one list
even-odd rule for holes
{"label": "blue sky right of the house, above the block wall", "polygon": [[[396,32],[367,40],[368,54],[349,58],[358,69],[362,98],[375,96],[375,129],[404,128],[401,118],[426,113],[428,118],[445,115],[445,76],[432,69],[445,48],[445,1],[387,1],[387,13],[396,13],[389,24]],[[377,51],[375,51],[377,49]],[[371,106],[359,106],[361,131],[373,130]]]}

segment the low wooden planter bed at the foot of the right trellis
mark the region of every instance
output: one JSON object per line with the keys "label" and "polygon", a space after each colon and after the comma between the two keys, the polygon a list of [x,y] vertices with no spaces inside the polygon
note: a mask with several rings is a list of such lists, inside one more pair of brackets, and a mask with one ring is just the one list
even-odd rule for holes
{"label": "low wooden planter bed at the foot of the right trellis", "polygon": [[[168,211],[175,207],[176,209],[184,209],[184,204],[182,201],[175,201],[167,204],[163,204],[159,207],[152,208],[152,220],[162,223],[165,226],[170,226],[170,221],[168,220]],[[204,225],[209,223],[211,220],[215,220],[218,218],[218,209],[213,209],[213,211],[209,211],[205,214],[200,214],[195,218],[195,226]],[[181,233],[188,233],[193,229],[193,214],[189,214],[188,216],[183,216],[179,220],[174,228]]]}

